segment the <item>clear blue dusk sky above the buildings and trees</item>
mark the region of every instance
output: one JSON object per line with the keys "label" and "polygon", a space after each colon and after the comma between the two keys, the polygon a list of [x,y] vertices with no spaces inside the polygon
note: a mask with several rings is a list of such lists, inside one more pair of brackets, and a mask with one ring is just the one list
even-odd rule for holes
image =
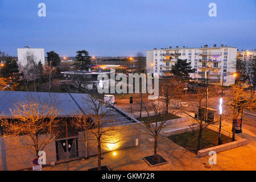
{"label": "clear blue dusk sky above the buildings and trees", "polygon": [[[39,17],[39,3],[46,16]],[[216,3],[217,16],[208,7]],[[167,47],[255,49],[255,0],[0,0],[0,50],[135,56]]]}

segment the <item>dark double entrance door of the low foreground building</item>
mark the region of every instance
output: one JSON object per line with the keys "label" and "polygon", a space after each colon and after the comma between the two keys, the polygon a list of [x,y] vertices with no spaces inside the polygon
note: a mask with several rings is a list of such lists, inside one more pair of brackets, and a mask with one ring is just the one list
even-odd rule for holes
{"label": "dark double entrance door of the low foreground building", "polygon": [[57,140],[55,144],[57,160],[77,158],[79,156],[78,138]]}

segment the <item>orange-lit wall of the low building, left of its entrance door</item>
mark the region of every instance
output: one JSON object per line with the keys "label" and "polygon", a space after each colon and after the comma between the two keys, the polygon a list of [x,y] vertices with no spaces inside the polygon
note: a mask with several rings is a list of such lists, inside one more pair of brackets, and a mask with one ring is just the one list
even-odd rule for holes
{"label": "orange-lit wall of the low building, left of its entrance door", "polygon": [[[27,139],[26,137],[19,137],[19,141],[16,142],[17,140],[14,138],[0,137],[0,170],[19,170],[34,166],[32,164],[32,160],[36,158],[34,152],[27,148],[19,147],[24,146],[24,140]],[[46,152],[47,164],[56,162],[55,141],[44,147],[43,151]]]}

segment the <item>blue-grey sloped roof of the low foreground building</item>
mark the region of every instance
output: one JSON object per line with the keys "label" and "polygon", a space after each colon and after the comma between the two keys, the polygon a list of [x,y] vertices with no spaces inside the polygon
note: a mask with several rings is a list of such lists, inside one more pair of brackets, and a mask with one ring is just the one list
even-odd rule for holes
{"label": "blue-grey sloped roof of the low foreground building", "polygon": [[[92,102],[88,94],[79,93],[48,93],[48,92],[19,92],[19,91],[0,91],[0,117],[13,118],[10,110],[15,109],[18,103],[28,102],[30,99],[38,99],[42,102],[54,102],[56,110],[59,110],[59,117],[72,117],[76,114],[94,114]],[[103,107],[103,112],[107,111]],[[116,109],[108,112],[105,119],[112,118],[115,125],[131,123],[126,115],[120,114]]]}

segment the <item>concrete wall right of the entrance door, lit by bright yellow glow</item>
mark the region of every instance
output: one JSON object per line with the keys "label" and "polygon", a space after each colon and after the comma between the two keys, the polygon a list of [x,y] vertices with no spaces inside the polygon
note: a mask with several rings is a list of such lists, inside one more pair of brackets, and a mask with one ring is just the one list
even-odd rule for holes
{"label": "concrete wall right of the entrance door, lit by bright yellow glow", "polygon": [[[109,132],[109,136],[104,138],[102,143],[102,153],[119,150],[122,148],[136,146],[141,143],[141,134],[139,133],[139,124],[131,123],[129,125],[114,127],[116,131]],[[87,132],[88,156],[97,155],[97,140],[96,137]],[[79,133],[79,157],[85,156],[85,135],[84,131]]]}

